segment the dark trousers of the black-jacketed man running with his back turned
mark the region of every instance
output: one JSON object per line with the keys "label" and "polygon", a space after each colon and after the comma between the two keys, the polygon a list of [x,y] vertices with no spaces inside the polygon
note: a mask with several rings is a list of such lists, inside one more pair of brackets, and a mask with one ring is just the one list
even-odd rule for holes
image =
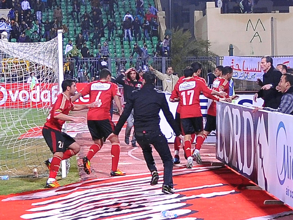
{"label": "dark trousers of the black-jacketed man running with his back turned", "polygon": [[156,151],[159,153],[161,160],[164,165],[164,183],[163,185],[168,185],[173,188],[173,158],[168,146],[166,137],[161,131],[153,132],[135,132],[135,138],[139,146],[142,148],[142,153],[144,155],[144,160],[147,163],[147,167],[151,172],[157,170],[155,160],[152,154],[151,145],[154,146]]}

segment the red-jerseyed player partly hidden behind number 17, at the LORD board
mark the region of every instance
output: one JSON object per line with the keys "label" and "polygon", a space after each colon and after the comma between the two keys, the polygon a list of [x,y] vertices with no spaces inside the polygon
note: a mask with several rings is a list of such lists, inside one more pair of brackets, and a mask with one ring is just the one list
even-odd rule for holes
{"label": "red-jerseyed player partly hidden behind number 17, at the LORD board", "polygon": [[202,146],[202,143],[205,141],[207,136],[214,130],[216,130],[216,103],[217,101],[228,101],[231,102],[232,99],[238,98],[238,96],[232,96],[229,97],[229,81],[232,78],[233,70],[231,67],[226,66],[223,67],[221,70],[222,74],[219,75],[218,78],[216,78],[213,82],[212,88],[216,91],[224,91],[227,93],[225,96],[225,99],[221,99],[217,97],[216,100],[213,100],[212,103],[209,106],[209,109],[207,110],[207,122],[205,124],[205,129],[203,132],[203,136],[199,138],[198,143],[195,145],[195,151],[193,153],[193,157],[195,158],[195,161],[197,163],[201,163],[201,156],[200,156],[200,148]]}

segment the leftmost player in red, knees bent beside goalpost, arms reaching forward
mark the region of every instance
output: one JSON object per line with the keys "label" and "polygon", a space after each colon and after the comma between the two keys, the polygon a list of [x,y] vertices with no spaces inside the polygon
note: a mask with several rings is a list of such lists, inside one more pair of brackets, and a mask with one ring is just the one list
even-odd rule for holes
{"label": "leftmost player in red, knees bent beside goalpost, arms reaching forward", "polygon": [[61,129],[65,121],[82,123],[86,122],[86,118],[69,116],[69,111],[79,111],[93,107],[96,104],[93,102],[89,105],[74,105],[71,102],[70,97],[76,92],[76,83],[72,79],[65,79],[62,82],[62,91],[57,96],[56,102],[52,105],[47,122],[42,129],[45,141],[54,154],[49,165],[50,174],[45,188],[56,188],[60,186],[56,181],[56,176],[61,160],[66,160],[76,155],[80,150],[79,144],[69,135],[61,132]]}

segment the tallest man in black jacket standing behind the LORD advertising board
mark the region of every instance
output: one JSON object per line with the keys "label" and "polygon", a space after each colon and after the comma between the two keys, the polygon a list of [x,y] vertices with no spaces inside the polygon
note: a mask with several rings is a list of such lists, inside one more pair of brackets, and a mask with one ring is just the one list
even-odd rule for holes
{"label": "tallest man in black jacket standing behind the LORD advertising board", "polygon": [[282,73],[273,66],[273,59],[270,56],[262,57],[260,66],[265,72],[263,74],[263,87],[255,93],[253,100],[263,98],[264,107],[276,109],[281,102],[282,93],[278,92],[276,86],[279,84]]}

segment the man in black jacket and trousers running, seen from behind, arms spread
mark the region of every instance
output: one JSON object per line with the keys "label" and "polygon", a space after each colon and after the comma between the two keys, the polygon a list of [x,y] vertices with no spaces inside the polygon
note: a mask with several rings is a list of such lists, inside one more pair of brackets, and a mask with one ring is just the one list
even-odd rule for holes
{"label": "man in black jacket and trousers running, seen from behind, arms spread", "polygon": [[142,148],[142,153],[147,166],[152,174],[151,185],[158,183],[159,175],[152,155],[151,145],[154,146],[159,153],[164,165],[164,182],[162,192],[173,194],[173,160],[168,142],[164,134],[161,132],[159,123],[159,112],[162,109],[166,120],[175,132],[176,136],[181,139],[179,127],[177,126],[172,113],[170,112],[165,93],[155,88],[156,75],[147,71],[144,73],[144,86],[141,89],[134,90],[129,97],[124,111],[117,122],[117,125],[111,136],[118,136],[126,119],[134,110],[134,131],[137,143]]}

